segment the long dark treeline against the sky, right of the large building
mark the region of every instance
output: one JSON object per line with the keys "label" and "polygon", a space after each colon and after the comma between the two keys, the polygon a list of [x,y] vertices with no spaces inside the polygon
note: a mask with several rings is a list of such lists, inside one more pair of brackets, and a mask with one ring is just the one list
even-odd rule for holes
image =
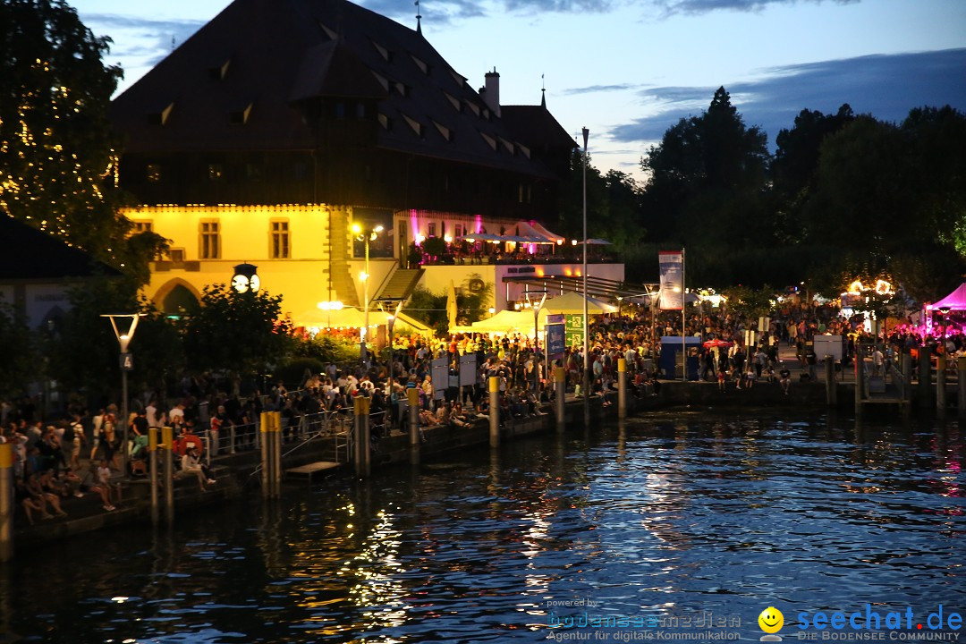
{"label": "long dark treeline against the sky, right of the large building", "polygon": [[[644,182],[587,168],[588,235],[611,239],[638,281],[682,245],[689,287],[805,283],[838,295],[885,276],[911,298],[947,294],[966,269],[966,116],[921,107],[902,123],[804,109],[768,151],[720,88],[641,159]],[[561,229],[581,235],[582,155]]]}

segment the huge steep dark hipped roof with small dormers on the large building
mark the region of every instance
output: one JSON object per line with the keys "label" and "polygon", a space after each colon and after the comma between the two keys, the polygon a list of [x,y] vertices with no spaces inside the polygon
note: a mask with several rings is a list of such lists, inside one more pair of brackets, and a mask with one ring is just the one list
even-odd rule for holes
{"label": "huge steep dark hipped roof with small dormers on the large building", "polygon": [[315,97],[377,100],[385,150],[553,176],[421,34],[346,0],[235,0],[112,121],[128,153],[305,150],[319,143],[296,102]]}

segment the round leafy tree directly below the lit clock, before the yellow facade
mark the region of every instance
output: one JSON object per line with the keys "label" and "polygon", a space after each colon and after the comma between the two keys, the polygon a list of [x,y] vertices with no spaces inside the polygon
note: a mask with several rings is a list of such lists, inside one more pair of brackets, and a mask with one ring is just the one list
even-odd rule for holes
{"label": "round leafy tree directly below the lit clock, before the yellow facade", "polygon": [[281,295],[205,288],[201,310],[185,322],[185,355],[195,372],[270,373],[291,354],[291,324],[280,319]]}

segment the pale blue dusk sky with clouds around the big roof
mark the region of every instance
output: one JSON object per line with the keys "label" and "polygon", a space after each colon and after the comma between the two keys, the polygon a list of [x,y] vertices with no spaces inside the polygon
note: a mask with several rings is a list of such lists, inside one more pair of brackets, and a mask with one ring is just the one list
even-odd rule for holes
{"label": "pale blue dusk sky with clouds around the big roof", "polygon": [[[69,0],[70,1],[70,0]],[[228,0],[73,0],[114,43],[121,90]],[[410,0],[358,4],[415,28]],[[592,163],[640,177],[639,161],[724,85],[748,126],[775,136],[803,108],[901,121],[913,107],[966,111],[966,0],[424,0],[423,35],[503,104],[547,106]]]}

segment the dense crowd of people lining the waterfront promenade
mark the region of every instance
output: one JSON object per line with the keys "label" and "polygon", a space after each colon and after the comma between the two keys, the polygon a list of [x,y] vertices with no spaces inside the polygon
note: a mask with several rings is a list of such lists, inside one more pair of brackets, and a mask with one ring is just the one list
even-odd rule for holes
{"label": "dense crowd of people lining the waterfront promenade", "polygon": [[[727,310],[696,309],[687,316],[683,332],[701,338],[689,349],[696,362],[696,378],[717,382],[723,391],[776,383],[776,391],[787,394],[793,366],[804,374],[801,378],[814,378],[816,356],[810,347],[816,334],[843,338],[843,367],[864,347],[870,347],[873,369],[880,373],[894,365],[902,351],[915,353],[925,348],[953,357],[966,355],[966,336],[961,333],[923,338],[915,326],[898,324],[888,335],[876,338],[864,330],[862,322],[841,317],[833,307],[788,306],[765,320],[742,318]],[[525,335],[455,334],[435,340],[412,336],[399,338],[391,353],[382,353],[384,360],[329,364],[322,373],[306,373],[299,382],[274,382],[266,391],[252,389],[242,394],[239,380],[184,378],[173,395],[145,392],[129,403],[124,421],[128,423],[127,445],[122,445],[125,433],[116,405],[89,412],[72,401],[66,418],[45,423],[36,401],[27,397],[0,402],[0,439],[13,445],[16,502],[28,522],[36,517],[63,517],[70,509],[65,503],[87,493],[97,494],[104,510],[113,511],[121,503],[119,475],[147,474],[148,434],[153,427],[173,428],[183,447],[184,471],[206,490],[215,481],[204,466],[201,451],[217,455],[254,449],[263,411],[279,411],[284,439],[298,440],[311,434],[314,426],[330,429],[333,420],[349,420],[353,399],[363,395],[371,399],[371,425],[374,437],[379,438],[406,429],[409,390],[414,389],[420,428],[459,428],[489,417],[487,383],[489,378],[497,378],[500,418],[512,422],[541,415],[545,413],[542,407],[554,402],[553,367],[565,370],[568,395],[596,396],[602,405],[611,405],[609,396],[615,389],[620,359],[626,361],[633,396],[657,395],[661,380],[674,378],[661,370],[662,342],[668,337],[680,338],[681,323],[678,312],[652,318],[649,310],[633,308],[619,316],[595,318],[589,325],[590,387],[586,391],[580,346],[551,356],[548,362],[542,347],[535,347]],[[759,323],[767,326],[759,329]],[[794,348],[797,365],[781,361],[782,346]],[[476,357],[472,382],[466,384],[464,376],[461,384],[460,359],[470,354]],[[433,360],[439,358],[447,365],[443,382],[433,380]],[[185,437],[190,440],[185,442]],[[127,473],[120,471],[122,450],[127,450]]]}

